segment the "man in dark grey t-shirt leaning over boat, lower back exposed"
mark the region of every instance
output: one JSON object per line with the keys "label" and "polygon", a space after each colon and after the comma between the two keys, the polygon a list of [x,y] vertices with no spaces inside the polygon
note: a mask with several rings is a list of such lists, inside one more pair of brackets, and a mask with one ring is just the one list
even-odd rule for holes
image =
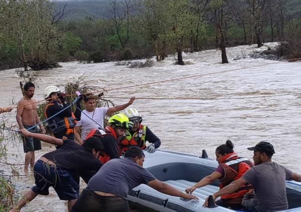
{"label": "man in dark grey t-shirt leaning over boat, lower back exposed", "polygon": [[184,199],[197,197],[178,191],[158,181],[143,168],[145,155],[140,147],[132,146],[123,159],[113,159],[103,165],[88,183],[72,208],[72,212],[130,212],[127,195],[140,184],[171,196]]}

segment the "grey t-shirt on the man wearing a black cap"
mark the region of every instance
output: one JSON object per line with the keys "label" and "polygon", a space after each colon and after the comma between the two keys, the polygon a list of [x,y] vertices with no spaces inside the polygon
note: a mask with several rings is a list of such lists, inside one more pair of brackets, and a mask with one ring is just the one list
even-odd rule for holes
{"label": "grey t-shirt on the man wearing a black cap", "polygon": [[292,172],[275,163],[265,162],[254,166],[243,178],[252,184],[258,198],[258,211],[281,211],[288,209],[285,180]]}

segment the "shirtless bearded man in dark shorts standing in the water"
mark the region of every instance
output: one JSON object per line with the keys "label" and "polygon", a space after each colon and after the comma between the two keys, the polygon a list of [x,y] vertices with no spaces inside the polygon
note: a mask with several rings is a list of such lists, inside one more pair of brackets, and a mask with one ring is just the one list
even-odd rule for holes
{"label": "shirtless bearded man in dark shorts standing in the water", "polygon": [[[36,123],[40,122],[39,116],[37,114],[36,108],[37,104],[35,100],[32,99],[34,95],[34,84],[28,82],[24,85],[24,97],[18,102],[16,120],[19,124],[19,128],[30,128]],[[45,129],[42,124],[39,124],[42,133],[45,133]],[[29,130],[30,132],[38,132],[37,127]],[[25,164],[24,172],[28,172],[28,164],[30,163],[31,169],[34,165],[34,151],[41,149],[41,142],[32,137],[23,137],[23,148],[25,154]]]}

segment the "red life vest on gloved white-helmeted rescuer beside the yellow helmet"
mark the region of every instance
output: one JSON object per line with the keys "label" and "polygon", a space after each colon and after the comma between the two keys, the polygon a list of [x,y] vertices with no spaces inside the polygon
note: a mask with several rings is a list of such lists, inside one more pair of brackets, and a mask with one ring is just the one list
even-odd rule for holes
{"label": "red life vest on gloved white-helmeted rescuer beside the yellow helmet", "polygon": [[128,130],[126,131],[126,137],[119,142],[119,147],[122,152],[126,152],[131,146],[139,146],[141,149],[145,149],[146,146],[146,126],[140,124],[139,130],[132,135]]}

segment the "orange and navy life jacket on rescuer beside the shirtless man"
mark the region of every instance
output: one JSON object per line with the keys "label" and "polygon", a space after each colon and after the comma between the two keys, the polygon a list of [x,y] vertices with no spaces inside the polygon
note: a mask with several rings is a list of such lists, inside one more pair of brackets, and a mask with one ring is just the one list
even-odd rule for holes
{"label": "orange and navy life jacket on rescuer beside the shirtless man", "polygon": [[[46,112],[48,107],[53,105],[58,105],[58,103],[54,102],[54,103],[47,104],[45,106],[44,115],[46,118],[48,118]],[[47,120],[47,122],[48,122],[48,126],[50,127],[53,133],[65,131],[65,135],[67,137],[70,133],[74,133],[74,127],[77,121],[75,115],[72,112],[71,116],[69,117],[62,118],[62,117],[55,116]]]}

